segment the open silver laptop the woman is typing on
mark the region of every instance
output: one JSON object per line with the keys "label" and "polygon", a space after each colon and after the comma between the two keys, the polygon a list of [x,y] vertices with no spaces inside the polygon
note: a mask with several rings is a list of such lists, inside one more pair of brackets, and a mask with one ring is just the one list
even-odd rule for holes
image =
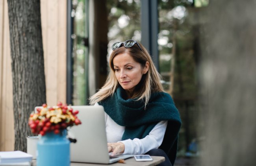
{"label": "open silver laptop the woman is typing on", "polygon": [[121,154],[110,159],[103,106],[71,107],[79,110],[78,118],[82,122],[68,130],[68,135],[77,140],[76,143],[70,143],[71,162],[109,164],[134,156]]}

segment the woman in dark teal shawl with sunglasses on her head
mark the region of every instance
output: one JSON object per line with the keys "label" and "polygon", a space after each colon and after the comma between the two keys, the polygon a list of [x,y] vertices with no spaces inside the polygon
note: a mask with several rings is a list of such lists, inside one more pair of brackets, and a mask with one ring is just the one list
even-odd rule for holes
{"label": "woman in dark teal shawl with sunglasses on her head", "polygon": [[[163,165],[173,164],[180,115],[150,55],[135,40],[117,42],[112,50],[106,83],[89,99],[91,105],[104,106],[109,152],[160,155],[166,159]],[[165,136],[167,124],[171,134]],[[171,154],[171,163],[159,147]]]}

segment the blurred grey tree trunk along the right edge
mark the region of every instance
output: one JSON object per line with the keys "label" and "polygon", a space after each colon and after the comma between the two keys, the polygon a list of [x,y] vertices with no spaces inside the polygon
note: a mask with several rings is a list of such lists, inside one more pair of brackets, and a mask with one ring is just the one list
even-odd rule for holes
{"label": "blurred grey tree trunk along the right edge", "polygon": [[256,1],[210,2],[200,67],[208,104],[201,165],[255,166]]}

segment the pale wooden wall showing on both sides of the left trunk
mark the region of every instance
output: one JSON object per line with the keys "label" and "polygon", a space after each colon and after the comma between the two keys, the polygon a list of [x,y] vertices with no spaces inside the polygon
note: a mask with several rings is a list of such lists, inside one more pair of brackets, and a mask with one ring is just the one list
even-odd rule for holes
{"label": "pale wooden wall showing on both sides of the left trunk", "polygon": [[[14,150],[13,92],[7,0],[0,0],[0,151]],[[66,102],[67,4],[41,0],[46,101]]]}

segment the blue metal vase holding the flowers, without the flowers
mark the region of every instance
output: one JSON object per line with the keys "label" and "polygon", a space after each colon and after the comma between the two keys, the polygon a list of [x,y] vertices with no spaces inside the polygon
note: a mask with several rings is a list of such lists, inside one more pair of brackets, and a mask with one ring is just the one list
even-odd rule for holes
{"label": "blue metal vase holding the flowers, without the flowers", "polygon": [[37,143],[37,166],[69,166],[70,141],[67,139],[67,130],[59,134],[54,132],[39,135]]}

